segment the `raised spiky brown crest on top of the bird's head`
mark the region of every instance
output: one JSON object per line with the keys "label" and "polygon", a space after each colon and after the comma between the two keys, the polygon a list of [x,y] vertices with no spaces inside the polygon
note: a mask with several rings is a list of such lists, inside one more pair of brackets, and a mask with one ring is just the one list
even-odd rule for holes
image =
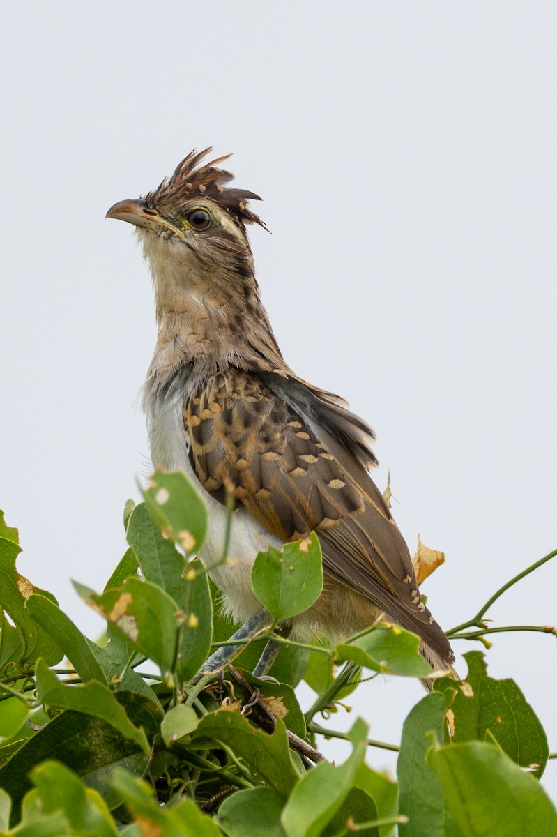
{"label": "raised spiky brown crest on top of the bird's head", "polygon": [[238,223],[258,223],[265,227],[261,218],[252,212],[247,203],[249,200],[260,201],[261,198],[245,189],[231,189],[223,185],[232,181],[234,175],[218,168],[217,163],[227,160],[231,157],[230,154],[199,165],[203,157],[207,157],[211,151],[211,147],[204,151],[197,151],[195,148],[190,151],[187,157],[178,163],[172,176],[166,177],[159,187],[146,195],[147,205],[158,209],[176,209],[182,201],[197,196],[211,198],[226,209]]}

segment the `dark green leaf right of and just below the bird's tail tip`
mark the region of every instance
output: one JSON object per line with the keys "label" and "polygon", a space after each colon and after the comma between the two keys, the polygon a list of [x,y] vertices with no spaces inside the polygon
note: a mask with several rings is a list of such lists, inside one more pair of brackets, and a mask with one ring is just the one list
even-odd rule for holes
{"label": "dark green leaf right of and just below the bird's tail tip", "polygon": [[485,741],[489,732],[514,762],[541,776],[549,756],[547,737],[519,686],[514,680],[489,677],[481,651],[470,651],[464,657],[466,680],[455,683],[443,678],[435,683],[439,691],[457,690],[451,705],[453,741]]}

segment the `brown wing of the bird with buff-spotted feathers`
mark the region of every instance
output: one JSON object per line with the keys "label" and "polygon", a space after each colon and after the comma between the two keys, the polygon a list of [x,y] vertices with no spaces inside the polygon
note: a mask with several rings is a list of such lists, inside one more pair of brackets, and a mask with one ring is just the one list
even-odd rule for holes
{"label": "brown wing of the bird with buff-spotted feathers", "polygon": [[319,422],[317,408],[297,410],[293,398],[233,367],[194,388],[184,403],[184,426],[201,484],[222,502],[232,490],[284,541],[317,532],[331,577],[451,659],[448,640],[418,593],[406,543],[343,439],[348,431],[335,434],[331,421],[328,427],[326,418]]}

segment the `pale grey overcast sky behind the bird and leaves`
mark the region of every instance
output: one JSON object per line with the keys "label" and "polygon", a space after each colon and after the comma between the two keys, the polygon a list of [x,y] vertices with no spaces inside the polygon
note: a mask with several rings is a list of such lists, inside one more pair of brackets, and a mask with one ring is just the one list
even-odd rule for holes
{"label": "pale grey overcast sky behind the bird and leaves", "polygon": [[[86,633],[69,578],[100,589],[125,550],[156,335],[140,249],[105,212],[193,146],[233,151],[263,196],[273,234],[250,236],[284,356],[376,429],[411,551],[421,532],[447,556],[422,586],[436,619],[557,547],[556,43],[550,2],[4,6],[0,507],[20,572]],[[554,624],[555,581],[548,564],[488,615]],[[493,643],[490,674],[557,750],[554,638]],[[375,682],[355,711],[396,741],[421,696]],[[557,798],[555,760],[544,785]]]}

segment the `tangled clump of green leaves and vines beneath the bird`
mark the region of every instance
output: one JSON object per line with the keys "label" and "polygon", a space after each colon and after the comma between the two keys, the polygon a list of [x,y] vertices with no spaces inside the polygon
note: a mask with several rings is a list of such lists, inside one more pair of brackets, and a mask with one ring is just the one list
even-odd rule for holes
{"label": "tangled clump of green leaves and vines beneath the bird", "polygon": [[[514,680],[489,677],[481,652],[466,655],[462,682],[432,680],[417,637],[391,624],[335,646],[273,633],[319,595],[316,537],[258,556],[253,589],[273,624],[237,640],[223,673],[199,677],[237,627],[193,557],[207,512],[180,473],[157,471],[144,496],[126,505],[130,547],[105,590],[75,583],[105,619],[98,642],[18,574],[18,531],[0,513],[0,835],[557,837],[539,784],[544,729]],[[555,554],[452,639],[488,647],[487,634],[516,629],[488,627],[488,608]],[[250,672],[271,635],[284,649],[273,679],[259,680]],[[400,745],[371,741],[361,720],[348,734],[327,726],[362,672],[432,681]],[[305,712],[301,680],[316,693]],[[317,734],[349,739],[345,763],[326,761]],[[396,782],[365,762],[381,746],[400,749]]]}

